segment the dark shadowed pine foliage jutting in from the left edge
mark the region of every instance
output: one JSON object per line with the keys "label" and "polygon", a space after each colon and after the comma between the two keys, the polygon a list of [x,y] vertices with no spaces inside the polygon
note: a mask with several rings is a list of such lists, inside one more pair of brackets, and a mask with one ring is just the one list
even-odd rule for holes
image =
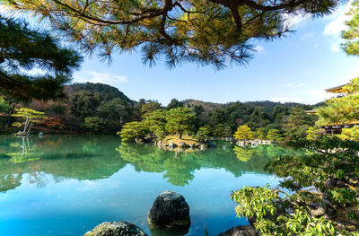
{"label": "dark shadowed pine foliage jutting in from the left edge", "polygon": [[[33,30],[25,22],[0,15],[0,92],[17,100],[51,100],[64,96],[82,57],[61,47],[48,32]],[[42,69],[43,75],[27,71]]]}

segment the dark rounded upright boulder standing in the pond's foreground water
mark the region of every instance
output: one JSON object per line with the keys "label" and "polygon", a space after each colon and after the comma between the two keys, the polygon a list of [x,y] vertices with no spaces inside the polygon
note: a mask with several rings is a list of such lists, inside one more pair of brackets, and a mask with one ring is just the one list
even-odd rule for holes
{"label": "dark rounded upright boulder standing in the pond's foreground water", "polygon": [[150,228],[189,228],[189,206],[184,197],[172,191],[164,191],[154,200],[148,213]]}

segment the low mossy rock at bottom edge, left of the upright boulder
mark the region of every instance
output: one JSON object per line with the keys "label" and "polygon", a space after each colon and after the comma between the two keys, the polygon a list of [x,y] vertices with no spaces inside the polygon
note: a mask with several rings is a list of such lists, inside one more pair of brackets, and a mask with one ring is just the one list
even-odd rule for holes
{"label": "low mossy rock at bottom edge, left of the upright boulder", "polygon": [[97,225],[83,236],[148,236],[135,224],[127,222],[105,222]]}

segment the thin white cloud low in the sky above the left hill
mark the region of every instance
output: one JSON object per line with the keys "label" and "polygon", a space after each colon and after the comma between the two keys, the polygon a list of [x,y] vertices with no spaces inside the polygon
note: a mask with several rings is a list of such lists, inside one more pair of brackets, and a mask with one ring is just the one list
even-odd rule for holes
{"label": "thin white cloud low in the sky above the left hill", "polygon": [[125,75],[110,74],[110,73],[100,73],[95,71],[87,71],[84,74],[89,76],[74,75],[74,82],[77,83],[107,83],[107,84],[118,84],[118,83],[128,83],[128,78]]}

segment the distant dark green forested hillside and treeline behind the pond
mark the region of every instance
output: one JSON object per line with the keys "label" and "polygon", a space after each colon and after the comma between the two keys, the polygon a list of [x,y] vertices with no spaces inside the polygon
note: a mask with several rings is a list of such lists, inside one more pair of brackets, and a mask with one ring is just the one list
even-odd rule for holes
{"label": "distant dark green forested hillside and treeline behind the pond", "polygon": [[197,116],[194,132],[207,127],[211,135],[232,136],[237,127],[248,125],[252,130],[278,129],[282,135],[303,135],[313,126],[315,116],[304,112],[317,105],[274,101],[229,102],[225,104],[173,99],[162,106],[157,101],[130,100],[117,88],[102,83],[74,83],[65,88],[66,98],[58,101],[13,102],[0,99],[0,126],[13,132],[10,115],[14,108],[26,107],[45,112],[48,119],[34,127],[46,133],[108,133],[115,134],[130,121],[144,118],[156,109],[187,107]]}

